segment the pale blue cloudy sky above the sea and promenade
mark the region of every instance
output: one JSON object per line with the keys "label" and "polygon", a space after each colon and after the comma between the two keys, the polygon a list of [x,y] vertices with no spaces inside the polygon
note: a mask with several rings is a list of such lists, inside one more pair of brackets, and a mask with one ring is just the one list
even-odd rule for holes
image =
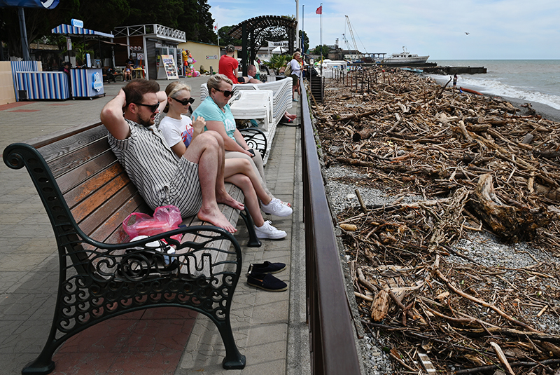
{"label": "pale blue cloudy sky above the sea and promenade", "polygon": [[[259,15],[295,15],[295,0],[209,0],[218,28]],[[314,48],[321,42],[320,1],[300,0],[300,25]],[[302,6],[304,15],[302,17]],[[323,1],[323,44],[411,53],[432,60],[560,59],[559,0]],[[301,28],[301,26],[300,26]],[[469,34],[465,34],[465,33]],[[351,47],[353,49],[353,47]]]}

